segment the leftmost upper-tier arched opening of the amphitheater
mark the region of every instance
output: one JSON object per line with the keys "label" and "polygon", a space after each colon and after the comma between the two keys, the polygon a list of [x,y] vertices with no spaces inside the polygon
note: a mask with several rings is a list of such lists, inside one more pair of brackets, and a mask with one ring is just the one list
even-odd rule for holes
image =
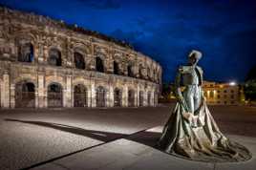
{"label": "leftmost upper-tier arched opening of the amphitheater", "polygon": [[32,62],[32,60],[33,60],[32,43],[21,44],[18,49],[18,61]]}

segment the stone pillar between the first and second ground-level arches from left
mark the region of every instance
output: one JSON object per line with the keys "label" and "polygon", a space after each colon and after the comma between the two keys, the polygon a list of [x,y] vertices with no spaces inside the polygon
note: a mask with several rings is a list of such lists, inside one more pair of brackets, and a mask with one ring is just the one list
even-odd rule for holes
{"label": "stone pillar between the first and second ground-level arches from left", "polygon": [[38,87],[37,87],[37,100],[38,100],[38,104],[37,107],[38,108],[43,108],[43,107],[47,107],[46,103],[47,98],[45,96],[45,90],[47,89],[47,87],[45,87],[45,76],[44,74],[38,74]]}

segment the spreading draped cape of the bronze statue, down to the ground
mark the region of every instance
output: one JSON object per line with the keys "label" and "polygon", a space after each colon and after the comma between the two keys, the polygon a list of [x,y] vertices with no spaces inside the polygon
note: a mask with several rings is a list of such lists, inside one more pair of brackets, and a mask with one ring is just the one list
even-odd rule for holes
{"label": "spreading draped cape of the bronze statue, down to the ground", "polygon": [[182,117],[182,113],[184,109],[177,103],[163,128],[160,149],[186,159],[203,161],[240,161],[251,158],[244,146],[224,137],[205,101],[189,121]]}

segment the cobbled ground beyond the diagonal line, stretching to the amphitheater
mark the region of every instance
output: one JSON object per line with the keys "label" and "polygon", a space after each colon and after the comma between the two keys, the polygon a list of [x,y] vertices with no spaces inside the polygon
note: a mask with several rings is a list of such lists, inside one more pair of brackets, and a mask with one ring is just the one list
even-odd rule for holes
{"label": "cobbled ground beyond the diagonal line, stretching to the amphitheater", "polygon": [[[157,108],[0,110],[0,169],[41,167],[37,165],[107,147],[107,144],[129,139],[145,129],[162,126],[172,108],[173,105]],[[256,108],[216,106],[210,110],[225,134],[256,137],[253,131],[256,129]],[[130,138],[129,141],[150,146],[155,140],[148,137],[144,135],[142,140]],[[106,154],[101,158],[104,156]],[[51,169],[57,168],[59,166]]]}

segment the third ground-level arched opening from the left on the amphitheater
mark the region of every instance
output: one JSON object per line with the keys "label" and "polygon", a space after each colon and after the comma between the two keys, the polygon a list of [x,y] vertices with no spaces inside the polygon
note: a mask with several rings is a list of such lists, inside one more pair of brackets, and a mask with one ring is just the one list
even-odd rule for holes
{"label": "third ground-level arched opening from the left on the amphitheater", "polygon": [[87,107],[87,89],[78,84],[74,88],[74,107]]}

